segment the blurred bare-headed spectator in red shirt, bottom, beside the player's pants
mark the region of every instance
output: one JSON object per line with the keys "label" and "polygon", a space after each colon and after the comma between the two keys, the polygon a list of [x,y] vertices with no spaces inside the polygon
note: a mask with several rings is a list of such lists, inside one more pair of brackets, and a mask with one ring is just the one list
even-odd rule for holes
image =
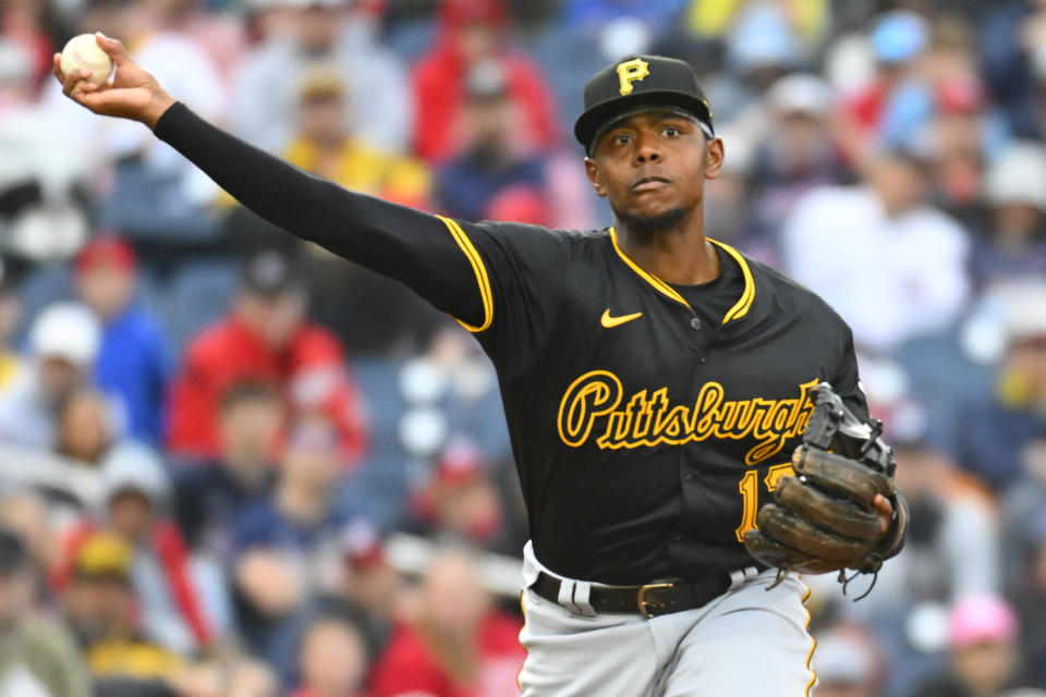
{"label": "blurred bare-headed spectator in red shirt, bottom, beside the player's pants", "polygon": [[459,552],[433,559],[410,619],[373,675],[375,697],[519,695],[522,623],[490,607],[476,565]]}

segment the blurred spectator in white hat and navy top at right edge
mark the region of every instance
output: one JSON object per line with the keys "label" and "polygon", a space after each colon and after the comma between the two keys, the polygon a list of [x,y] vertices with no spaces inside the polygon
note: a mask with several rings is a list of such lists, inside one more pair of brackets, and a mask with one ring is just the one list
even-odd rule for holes
{"label": "blurred spectator in white hat and navy top at right edge", "polygon": [[1046,276],[1046,147],[1008,146],[984,182],[990,218],[971,257],[981,288]]}

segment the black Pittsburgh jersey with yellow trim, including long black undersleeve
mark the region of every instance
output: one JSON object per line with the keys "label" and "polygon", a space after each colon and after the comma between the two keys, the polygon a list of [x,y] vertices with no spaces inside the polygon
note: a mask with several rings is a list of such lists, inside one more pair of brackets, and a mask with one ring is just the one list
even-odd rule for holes
{"label": "black Pittsburgh jersey with yellow trim, including long black undersleeve", "polygon": [[[348,192],[175,105],[156,134],[270,222],[396,278],[497,368],[537,558],[608,584],[752,565],[741,539],[790,472],[829,380],[867,417],[849,328],[716,243],[721,276],[673,288],[613,229],[466,223]],[[688,301],[688,298],[690,298]]]}

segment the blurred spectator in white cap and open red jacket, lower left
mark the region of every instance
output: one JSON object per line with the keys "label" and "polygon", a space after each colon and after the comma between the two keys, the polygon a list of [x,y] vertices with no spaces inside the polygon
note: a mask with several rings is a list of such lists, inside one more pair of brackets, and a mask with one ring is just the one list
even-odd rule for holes
{"label": "blurred spectator in white cap and open red jacket, lower left", "polygon": [[182,656],[208,647],[229,614],[222,607],[223,582],[214,580],[191,557],[171,522],[170,484],[159,457],[145,445],[127,443],[109,452],[101,470],[104,511],[69,531],[53,584],[59,589],[69,584],[81,549],[93,536],[114,536],[133,551],[129,575],[142,634]]}

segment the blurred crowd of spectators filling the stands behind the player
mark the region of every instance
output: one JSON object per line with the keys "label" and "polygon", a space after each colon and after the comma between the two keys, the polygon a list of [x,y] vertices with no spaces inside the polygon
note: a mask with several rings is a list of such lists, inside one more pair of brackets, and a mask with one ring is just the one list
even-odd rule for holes
{"label": "blurred crowd of spectators filling the stands behind the player", "polygon": [[306,171],[565,229],[610,222],[585,80],[691,62],[708,234],[852,326],[913,510],[863,600],[807,579],[816,694],[1046,695],[1043,0],[0,0],[0,697],[500,697],[523,660],[477,344],[62,97],[95,30]]}

